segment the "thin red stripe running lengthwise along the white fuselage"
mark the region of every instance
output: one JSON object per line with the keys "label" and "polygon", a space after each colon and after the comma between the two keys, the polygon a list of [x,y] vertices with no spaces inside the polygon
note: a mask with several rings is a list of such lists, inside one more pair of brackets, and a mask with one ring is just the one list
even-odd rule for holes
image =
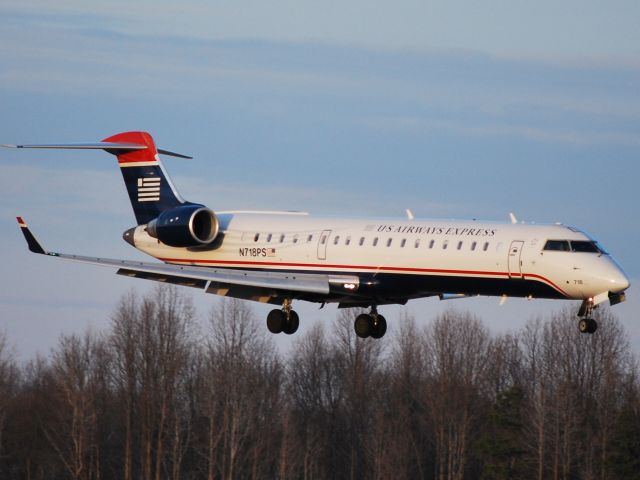
{"label": "thin red stripe running lengthwise along the white fuselage", "polygon": [[[207,264],[207,265],[238,265],[238,266],[258,266],[258,267],[302,267],[302,268],[313,268],[316,270],[327,269],[327,268],[336,268],[336,269],[344,269],[344,270],[372,270],[372,271],[381,271],[381,272],[412,272],[412,273],[446,273],[451,275],[478,275],[478,276],[496,276],[496,277],[509,277],[508,272],[491,272],[491,271],[481,271],[481,270],[449,270],[449,269],[439,269],[439,268],[415,268],[415,267],[388,267],[388,266],[379,266],[374,267],[371,265],[334,265],[334,264],[318,264],[318,263],[279,263],[279,262],[253,262],[253,261],[245,261],[245,260],[183,260],[180,258],[159,258],[163,262],[167,263],[187,263],[187,264]],[[512,275],[515,276],[515,275]],[[518,275],[520,277],[520,275]],[[541,280],[557,291],[559,291],[565,297],[569,297],[569,295],[558,287],[555,283],[553,283],[548,278],[543,277],[542,275],[537,275],[534,273],[523,273],[522,279],[525,277],[531,277],[538,280]]]}

